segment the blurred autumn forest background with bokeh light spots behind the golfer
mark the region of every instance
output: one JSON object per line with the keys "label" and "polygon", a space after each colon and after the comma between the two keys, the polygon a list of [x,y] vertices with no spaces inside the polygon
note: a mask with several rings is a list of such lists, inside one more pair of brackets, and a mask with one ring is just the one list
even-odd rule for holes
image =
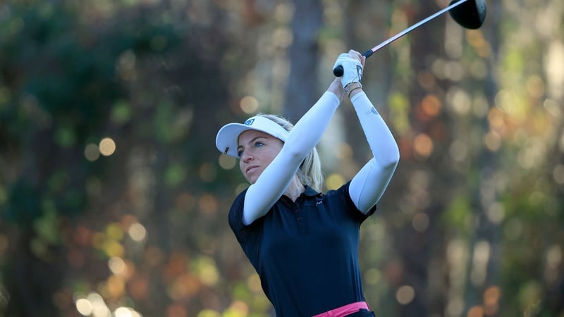
{"label": "blurred autumn forest background with bokeh light spots behind the golfer", "polygon": [[[215,148],[297,120],[365,51],[448,0],[0,2],[0,316],[273,316],[228,228]],[[362,226],[377,316],[564,317],[564,2],[489,1],[367,60],[401,160]],[[369,149],[343,102],[326,188]]]}

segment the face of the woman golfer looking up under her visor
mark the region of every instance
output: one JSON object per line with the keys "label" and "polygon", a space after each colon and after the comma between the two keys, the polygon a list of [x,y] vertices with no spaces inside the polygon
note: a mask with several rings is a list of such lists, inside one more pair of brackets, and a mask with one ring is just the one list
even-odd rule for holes
{"label": "face of the woman golfer looking up under her visor", "polygon": [[239,168],[245,179],[255,184],[262,171],[282,149],[281,139],[257,130],[247,130],[239,135],[237,154]]}

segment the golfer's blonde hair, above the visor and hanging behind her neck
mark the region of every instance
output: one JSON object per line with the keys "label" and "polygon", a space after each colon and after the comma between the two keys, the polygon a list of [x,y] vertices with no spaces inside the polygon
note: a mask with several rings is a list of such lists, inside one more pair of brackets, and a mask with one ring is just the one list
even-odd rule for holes
{"label": "golfer's blonde hair, above the visor and hanging behind her neck", "polygon": [[[262,116],[274,121],[286,131],[290,131],[294,128],[294,125],[282,116],[268,113],[257,113],[257,116]],[[317,154],[317,149],[315,147],[309,151],[309,154],[307,154],[304,161],[302,161],[297,174],[298,180],[300,180],[303,185],[309,185],[309,187],[312,187],[317,192],[321,192],[321,187],[323,186],[323,173],[321,173],[321,161],[319,161],[319,154]]]}

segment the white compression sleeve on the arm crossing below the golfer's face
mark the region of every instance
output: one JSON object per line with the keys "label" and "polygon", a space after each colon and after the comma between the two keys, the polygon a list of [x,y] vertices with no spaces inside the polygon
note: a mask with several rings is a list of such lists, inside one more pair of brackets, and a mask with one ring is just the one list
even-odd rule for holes
{"label": "white compression sleeve on the arm crossing below the golfer's face", "polygon": [[247,189],[243,206],[245,225],[264,216],[286,191],[305,156],[321,139],[339,103],[335,94],[325,92],[295,124],[280,153]]}

